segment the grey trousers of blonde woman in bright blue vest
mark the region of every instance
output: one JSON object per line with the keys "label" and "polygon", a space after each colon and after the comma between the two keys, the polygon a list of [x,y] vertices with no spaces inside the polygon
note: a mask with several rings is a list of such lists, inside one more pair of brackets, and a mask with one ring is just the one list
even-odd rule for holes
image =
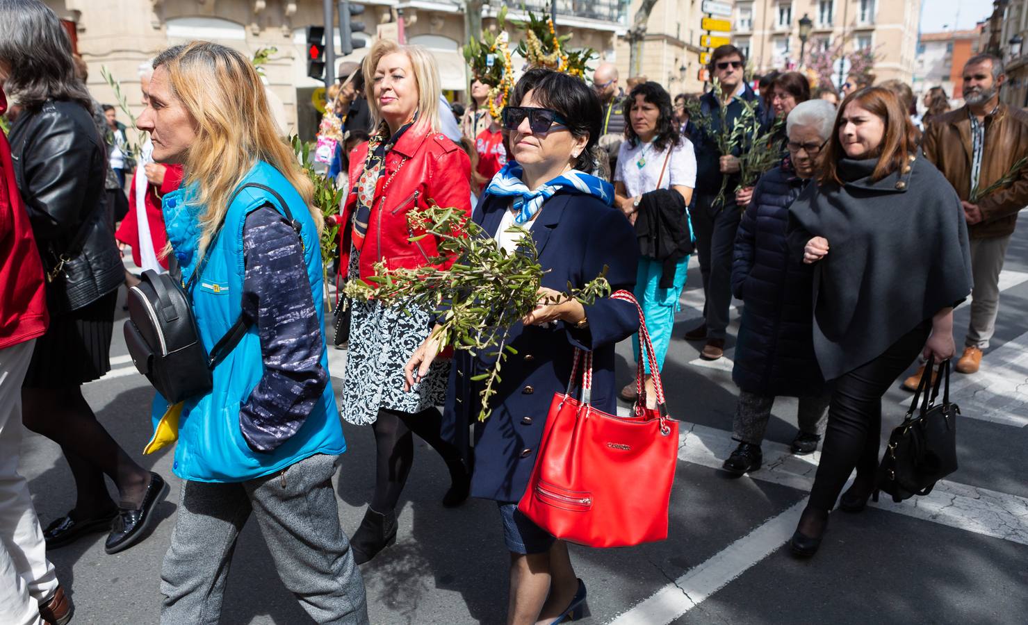
{"label": "grey trousers of blonde woman in bright blue vest", "polygon": [[251,513],[279,577],[311,619],[367,624],[364,581],[339,526],[332,489],[336,461],[317,455],[249,481],[182,482],[178,520],[160,573],[161,624],[218,622],[235,540]]}

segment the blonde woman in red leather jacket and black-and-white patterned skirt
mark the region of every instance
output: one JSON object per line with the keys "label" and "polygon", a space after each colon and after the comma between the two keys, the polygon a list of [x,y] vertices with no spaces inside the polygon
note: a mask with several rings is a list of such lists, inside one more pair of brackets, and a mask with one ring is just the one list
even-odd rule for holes
{"label": "blonde woman in red leather jacket and black-and-white patterned skirt", "polygon": [[[367,278],[373,266],[416,268],[438,256],[433,237],[416,242],[407,214],[431,203],[471,216],[471,161],[439,132],[439,71],[418,46],[379,41],[364,60],[368,105],[376,129],[351,154],[351,191],[343,211],[347,276]],[[452,261],[450,261],[452,262]],[[371,424],[377,452],[375,492],[351,544],[357,563],[396,541],[396,503],[414,458],[417,433],[446,461],[452,485],[443,505],[468,497],[470,473],[440,436],[449,362],[433,366],[404,391],[403,366],[432,328],[431,310],[355,302],[343,379],[342,418]]]}

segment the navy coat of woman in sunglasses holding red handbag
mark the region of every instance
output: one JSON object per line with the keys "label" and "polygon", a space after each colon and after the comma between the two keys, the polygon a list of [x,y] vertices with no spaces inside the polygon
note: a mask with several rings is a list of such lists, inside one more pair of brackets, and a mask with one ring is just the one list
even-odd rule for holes
{"label": "navy coat of woman in sunglasses holding red handbag", "polygon": [[[473,220],[494,235],[510,198],[486,196]],[[635,231],[617,209],[600,200],[561,191],[543,204],[531,238],[539,262],[548,271],[543,286],[566,290],[594,279],[608,266],[614,290],[635,286],[638,244]],[[475,427],[475,470],[471,495],[502,502],[521,499],[536,464],[547,413],[554,393],[563,393],[571,376],[574,349],[593,353],[592,405],[617,412],[614,346],[638,329],[638,312],[627,302],[601,299],[586,306],[589,325],[576,329],[562,321],[552,327],[515,324],[510,342],[517,355],[504,361],[503,382],[489,403],[491,416],[477,423],[481,383],[471,377],[484,372],[485,361],[458,350],[450,369],[443,435],[457,444]]]}

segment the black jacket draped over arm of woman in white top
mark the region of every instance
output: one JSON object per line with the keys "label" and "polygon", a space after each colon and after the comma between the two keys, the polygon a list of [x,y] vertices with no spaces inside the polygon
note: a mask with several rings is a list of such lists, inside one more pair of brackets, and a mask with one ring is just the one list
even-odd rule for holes
{"label": "black jacket draped over arm of woman in white top", "polygon": [[660,288],[673,286],[678,261],[693,251],[692,228],[682,194],[673,189],[644,193],[635,219],[635,237],[639,253],[663,262]]}

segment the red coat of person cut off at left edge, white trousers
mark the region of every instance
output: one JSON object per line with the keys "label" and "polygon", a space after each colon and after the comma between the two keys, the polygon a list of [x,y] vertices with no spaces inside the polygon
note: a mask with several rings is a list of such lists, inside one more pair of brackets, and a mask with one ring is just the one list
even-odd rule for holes
{"label": "red coat of person cut off at left edge, white trousers", "polygon": [[[6,110],[0,89],[0,115]],[[14,182],[7,135],[0,132],[0,349],[42,336],[48,323],[43,264]]]}

